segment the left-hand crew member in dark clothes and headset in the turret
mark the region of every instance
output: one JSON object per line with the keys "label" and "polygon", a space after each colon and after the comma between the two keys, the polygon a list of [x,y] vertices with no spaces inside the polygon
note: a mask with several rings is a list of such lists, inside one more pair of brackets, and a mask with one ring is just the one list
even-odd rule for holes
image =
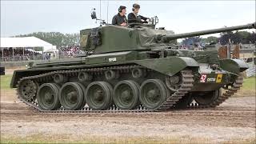
{"label": "left-hand crew member in dark clothes and headset in the turret", "polygon": [[118,26],[126,26],[127,19],[126,19],[126,6],[120,6],[118,8],[118,14],[114,15],[112,18],[112,25]]}

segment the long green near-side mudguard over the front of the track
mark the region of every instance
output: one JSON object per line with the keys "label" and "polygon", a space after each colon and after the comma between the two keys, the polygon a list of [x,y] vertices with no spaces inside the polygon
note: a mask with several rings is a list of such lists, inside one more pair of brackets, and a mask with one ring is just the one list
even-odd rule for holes
{"label": "long green near-side mudguard over the front of the track", "polygon": [[155,58],[135,61],[138,65],[156,70],[162,74],[173,76],[186,67],[198,67],[198,62],[193,58],[187,57],[169,57]]}

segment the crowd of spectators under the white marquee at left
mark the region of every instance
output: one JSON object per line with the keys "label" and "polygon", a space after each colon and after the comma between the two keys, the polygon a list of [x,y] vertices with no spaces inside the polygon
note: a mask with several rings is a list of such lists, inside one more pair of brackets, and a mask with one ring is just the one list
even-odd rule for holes
{"label": "crowd of spectators under the white marquee at left", "polygon": [[30,61],[42,59],[42,54],[31,50],[23,48],[5,48],[0,52],[1,61]]}

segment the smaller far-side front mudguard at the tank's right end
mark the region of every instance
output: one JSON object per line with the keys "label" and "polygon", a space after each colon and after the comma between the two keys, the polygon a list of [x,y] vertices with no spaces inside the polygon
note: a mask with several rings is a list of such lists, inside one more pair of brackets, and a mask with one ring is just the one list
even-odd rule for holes
{"label": "smaller far-side front mudguard at the tank's right end", "polygon": [[246,62],[240,59],[222,59],[220,60],[220,66],[223,70],[236,75],[249,68]]}

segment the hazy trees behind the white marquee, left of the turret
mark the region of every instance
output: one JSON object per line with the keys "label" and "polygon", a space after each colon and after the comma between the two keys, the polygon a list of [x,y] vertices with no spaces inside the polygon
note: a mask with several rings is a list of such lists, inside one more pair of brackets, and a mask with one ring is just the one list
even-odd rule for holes
{"label": "hazy trees behind the white marquee, left of the turret", "polygon": [[14,37],[36,37],[54,46],[74,46],[79,43],[79,34],[62,34],[60,32],[34,32],[32,34],[20,34]]}

